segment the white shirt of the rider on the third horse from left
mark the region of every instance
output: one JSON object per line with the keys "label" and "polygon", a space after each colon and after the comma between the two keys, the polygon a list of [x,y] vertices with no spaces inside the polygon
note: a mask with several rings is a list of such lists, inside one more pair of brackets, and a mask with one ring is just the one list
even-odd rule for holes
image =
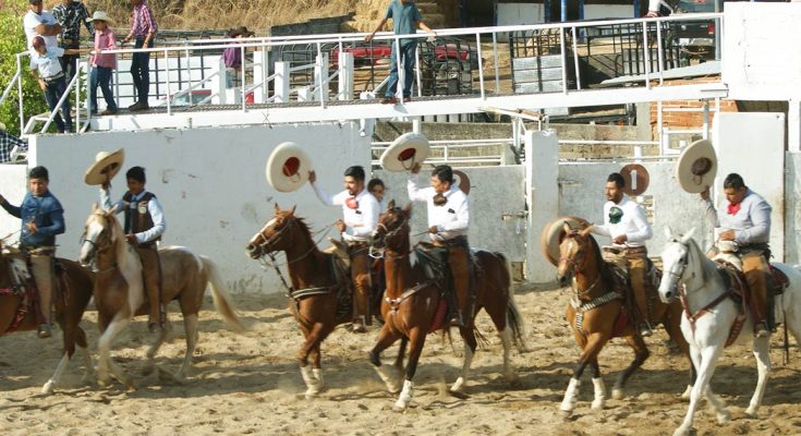
{"label": "white shirt of the rider on the third horse from left", "polygon": [[342,191],[335,196],[328,195],[317,183],[313,183],[314,193],[317,194],[323,204],[326,206],[342,206],[342,220],[345,229],[342,232],[342,239],[348,242],[369,242],[373,232],[378,226],[378,215],[380,208],[378,201],[366,189],[356,194],[356,208],[348,207],[348,198],[353,197],[348,191]]}

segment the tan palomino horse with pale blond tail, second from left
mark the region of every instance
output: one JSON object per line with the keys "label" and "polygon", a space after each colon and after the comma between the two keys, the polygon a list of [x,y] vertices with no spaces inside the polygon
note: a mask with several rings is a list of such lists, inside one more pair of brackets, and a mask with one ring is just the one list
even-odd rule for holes
{"label": "tan palomino horse with pale blond tail, second from left", "polygon": [[[159,249],[161,263],[161,301],[169,304],[178,300],[186,331],[186,354],[177,378],[185,379],[192,366],[192,354],[197,344],[197,313],[203,305],[206,287],[210,284],[217,312],[228,325],[242,331],[244,328],[236,316],[217,266],[206,256],[193,254],[185,247]],[[93,206],[84,227],[81,244],[81,263],[92,265],[96,272],[93,293],[98,312],[100,340],[98,342],[98,380],[107,385],[109,371],[120,383],[133,388],[125,373],[111,360],[111,342],[135,315],[147,312],[142,263],[134,247],[125,241],[122,227],[114,210],[102,210]],[[159,347],[167,338],[170,324],[161,330],[156,342],[147,350],[148,366],[153,366]]]}

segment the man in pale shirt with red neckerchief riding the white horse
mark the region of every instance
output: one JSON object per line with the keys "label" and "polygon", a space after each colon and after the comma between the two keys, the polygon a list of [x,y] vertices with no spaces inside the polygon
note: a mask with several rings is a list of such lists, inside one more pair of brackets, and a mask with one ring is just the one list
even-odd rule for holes
{"label": "man in pale shirt with red neckerchief riding the white horse", "polygon": [[728,201],[726,208],[715,209],[709,198],[709,189],[701,192],[706,203],[706,218],[719,229],[718,241],[737,244],[735,254],[742,259],[742,272],[751,291],[751,310],[754,315],[754,335],[766,337],[774,326],[768,316],[768,281],[770,256],[770,205],[751,191],[737,173],[726,175],[724,194]]}

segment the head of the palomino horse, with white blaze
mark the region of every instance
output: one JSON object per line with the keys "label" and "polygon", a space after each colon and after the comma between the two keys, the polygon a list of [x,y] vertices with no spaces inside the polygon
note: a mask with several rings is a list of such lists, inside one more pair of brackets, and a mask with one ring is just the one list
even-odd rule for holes
{"label": "head of the palomino horse, with white blaze", "polygon": [[[116,207],[105,210],[97,203],[92,205],[92,214],[86,219],[81,237],[81,265],[97,270],[98,257],[122,242],[122,227],[114,214]],[[110,252],[113,253],[113,250]]]}

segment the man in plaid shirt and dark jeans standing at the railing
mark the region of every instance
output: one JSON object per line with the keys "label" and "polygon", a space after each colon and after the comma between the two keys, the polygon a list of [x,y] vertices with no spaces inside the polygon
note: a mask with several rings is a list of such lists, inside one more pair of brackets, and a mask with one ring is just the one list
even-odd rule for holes
{"label": "man in plaid shirt and dark jeans standing at the railing", "polygon": [[[134,40],[134,48],[153,48],[153,39],[158,26],[153,15],[153,10],[145,0],[131,0],[133,7],[133,19],[131,32],[123,43]],[[129,110],[145,110],[150,106],[147,104],[147,95],[150,92],[150,52],[135,52],[131,60],[131,75],[136,87],[136,102],[129,106]]]}

